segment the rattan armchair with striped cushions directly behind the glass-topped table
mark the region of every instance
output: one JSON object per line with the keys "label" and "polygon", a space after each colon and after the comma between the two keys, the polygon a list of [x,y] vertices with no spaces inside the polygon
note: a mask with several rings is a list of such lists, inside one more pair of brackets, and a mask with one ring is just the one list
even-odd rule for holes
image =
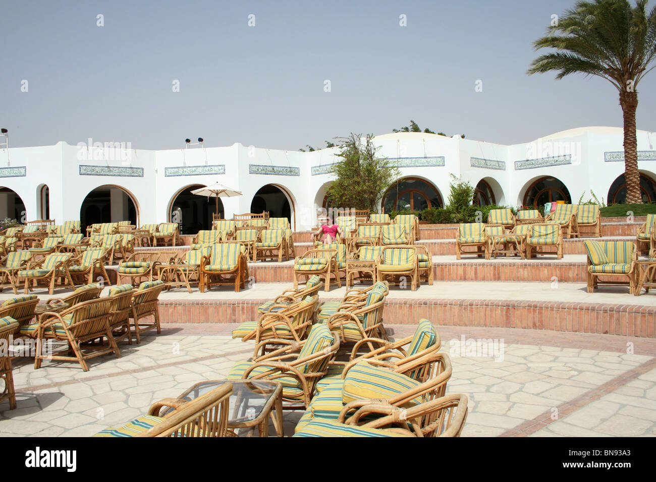
{"label": "rattan armchair with striped cushions directly behind the glass-topped table", "polygon": [[[306,340],[266,340],[265,344],[277,343],[281,348],[262,357],[236,363],[228,379],[252,378],[279,381],[283,385],[283,409],[304,410],[310,404],[316,383],[327,372],[330,361],[339,350],[339,338],[325,325],[314,325]],[[260,351],[259,347],[255,348]]]}

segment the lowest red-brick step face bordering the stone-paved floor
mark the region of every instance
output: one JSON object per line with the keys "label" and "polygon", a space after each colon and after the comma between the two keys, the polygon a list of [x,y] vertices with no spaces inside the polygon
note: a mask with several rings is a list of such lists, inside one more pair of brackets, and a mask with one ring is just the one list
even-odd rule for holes
{"label": "lowest red-brick step face bordering the stone-paved floor", "polygon": [[[338,300],[322,298],[322,301],[324,299]],[[160,299],[159,317],[164,324],[241,323],[257,319],[257,307],[266,301]],[[414,325],[422,318],[432,320],[438,327],[521,328],[654,338],[656,308],[627,304],[485,299],[388,298],[385,302],[385,323]]]}

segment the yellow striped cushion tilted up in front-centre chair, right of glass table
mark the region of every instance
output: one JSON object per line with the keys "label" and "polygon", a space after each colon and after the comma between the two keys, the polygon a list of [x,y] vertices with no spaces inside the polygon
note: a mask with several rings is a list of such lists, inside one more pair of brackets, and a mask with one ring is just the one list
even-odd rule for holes
{"label": "yellow striped cushion tilted up in front-centre chair, right of glass table", "polygon": [[[342,403],[354,400],[388,399],[416,388],[420,383],[401,373],[375,367],[366,361],[356,363],[346,374],[342,387]],[[405,407],[419,405],[422,397],[416,397]]]}

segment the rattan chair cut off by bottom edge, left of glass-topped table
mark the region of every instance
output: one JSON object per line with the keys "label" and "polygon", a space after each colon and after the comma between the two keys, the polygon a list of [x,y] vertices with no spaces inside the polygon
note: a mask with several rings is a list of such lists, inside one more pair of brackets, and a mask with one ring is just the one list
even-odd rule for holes
{"label": "rattan chair cut off by bottom edge, left of glass-topped table", "polygon": [[[94,437],[228,437],[228,409],[232,384],[225,383],[192,401],[163,399],[142,415],[119,427],[108,427]],[[159,416],[163,407],[174,411]]]}

